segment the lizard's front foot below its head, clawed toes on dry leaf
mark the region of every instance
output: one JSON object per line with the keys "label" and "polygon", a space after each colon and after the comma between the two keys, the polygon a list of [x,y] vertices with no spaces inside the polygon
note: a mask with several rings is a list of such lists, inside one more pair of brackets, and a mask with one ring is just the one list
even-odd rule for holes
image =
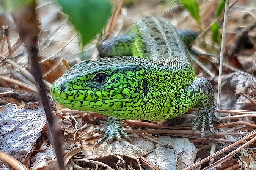
{"label": "lizard's front foot below its head, clawed toes on dry leaf", "polygon": [[107,125],[105,126],[105,128],[102,130],[97,127],[92,131],[92,133],[93,132],[104,134],[101,139],[95,142],[94,148],[99,146],[103,142],[106,142],[106,145],[109,145],[114,140],[114,138],[116,138],[119,142],[122,142],[123,137],[124,139],[132,142],[129,135],[123,131],[123,128],[121,126],[121,119],[117,119],[115,117],[107,116]]}

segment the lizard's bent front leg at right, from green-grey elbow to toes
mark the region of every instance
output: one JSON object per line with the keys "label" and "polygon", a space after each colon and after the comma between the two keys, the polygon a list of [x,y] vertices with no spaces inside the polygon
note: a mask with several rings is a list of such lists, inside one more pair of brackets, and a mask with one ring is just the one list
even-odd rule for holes
{"label": "lizard's bent front leg at right, from green-grey elbow to toes", "polygon": [[187,91],[187,96],[196,108],[198,108],[198,114],[196,118],[192,121],[193,128],[201,125],[201,138],[204,138],[204,131],[206,125],[209,125],[210,132],[215,134],[212,119],[217,118],[216,107],[214,105],[214,91],[210,81],[204,77],[196,78],[189,86]]}

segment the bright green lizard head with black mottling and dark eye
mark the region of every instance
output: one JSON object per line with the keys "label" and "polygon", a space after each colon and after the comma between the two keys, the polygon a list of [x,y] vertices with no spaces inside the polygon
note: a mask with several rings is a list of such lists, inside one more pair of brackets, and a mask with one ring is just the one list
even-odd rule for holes
{"label": "bright green lizard head with black mottling and dark eye", "polygon": [[108,57],[77,63],[53,82],[53,99],[73,110],[129,117],[134,110],[138,111],[135,107],[143,104],[147,75],[133,60],[135,57],[128,58]]}

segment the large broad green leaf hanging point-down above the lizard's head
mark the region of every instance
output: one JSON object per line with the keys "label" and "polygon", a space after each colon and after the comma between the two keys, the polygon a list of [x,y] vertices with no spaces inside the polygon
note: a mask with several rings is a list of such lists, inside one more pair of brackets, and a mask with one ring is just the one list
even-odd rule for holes
{"label": "large broad green leaf hanging point-down above the lizard's head", "polygon": [[109,0],[57,0],[85,45],[106,25],[112,13]]}

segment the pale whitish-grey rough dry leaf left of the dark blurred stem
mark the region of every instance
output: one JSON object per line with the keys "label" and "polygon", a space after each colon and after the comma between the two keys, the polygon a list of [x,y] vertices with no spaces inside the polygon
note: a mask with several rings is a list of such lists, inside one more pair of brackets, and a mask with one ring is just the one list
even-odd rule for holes
{"label": "pale whitish-grey rough dry leaf left of the dark blurred stem", "polygon": [[0,150],[29,165],[30,154],[46,126],[44,109],[39,103],[0,106]]}

